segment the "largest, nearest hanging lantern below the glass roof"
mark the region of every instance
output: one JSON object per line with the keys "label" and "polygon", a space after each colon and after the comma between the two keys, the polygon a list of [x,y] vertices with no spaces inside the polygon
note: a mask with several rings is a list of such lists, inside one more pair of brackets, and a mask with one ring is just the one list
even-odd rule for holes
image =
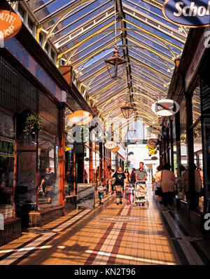
{"label": "largest, nearest hanging lantern below the glass roof", "polygon": [[[115,46],[113,56],[105,60],[111,79],[121,79],[125,71],[123,64],[126,62],[127,61],[123,60],[123,58],[119,56],[118,47]],[[123,70],[122,67],[124,68]]]}

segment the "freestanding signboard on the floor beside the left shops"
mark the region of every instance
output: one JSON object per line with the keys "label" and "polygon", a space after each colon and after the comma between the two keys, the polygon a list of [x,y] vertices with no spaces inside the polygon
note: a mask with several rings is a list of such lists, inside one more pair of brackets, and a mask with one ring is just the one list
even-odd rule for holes
{"label": "freestanding signboard on the floor beside the left shops", "polygon": [[94,184],[77,184],[76,209],[79,206],[95,207],[94,187]]}

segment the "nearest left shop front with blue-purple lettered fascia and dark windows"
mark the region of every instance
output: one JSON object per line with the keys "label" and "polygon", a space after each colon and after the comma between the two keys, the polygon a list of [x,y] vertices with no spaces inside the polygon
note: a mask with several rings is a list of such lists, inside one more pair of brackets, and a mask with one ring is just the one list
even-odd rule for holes
{"label": "nearest left shop front with blue-purple lettered fascia and dark windows", "polygon": [[0,213],[13,235],[1,231],[6,243],[21,226],[63,214],[63,88],[15,37],[1,48],[0,80]]}

